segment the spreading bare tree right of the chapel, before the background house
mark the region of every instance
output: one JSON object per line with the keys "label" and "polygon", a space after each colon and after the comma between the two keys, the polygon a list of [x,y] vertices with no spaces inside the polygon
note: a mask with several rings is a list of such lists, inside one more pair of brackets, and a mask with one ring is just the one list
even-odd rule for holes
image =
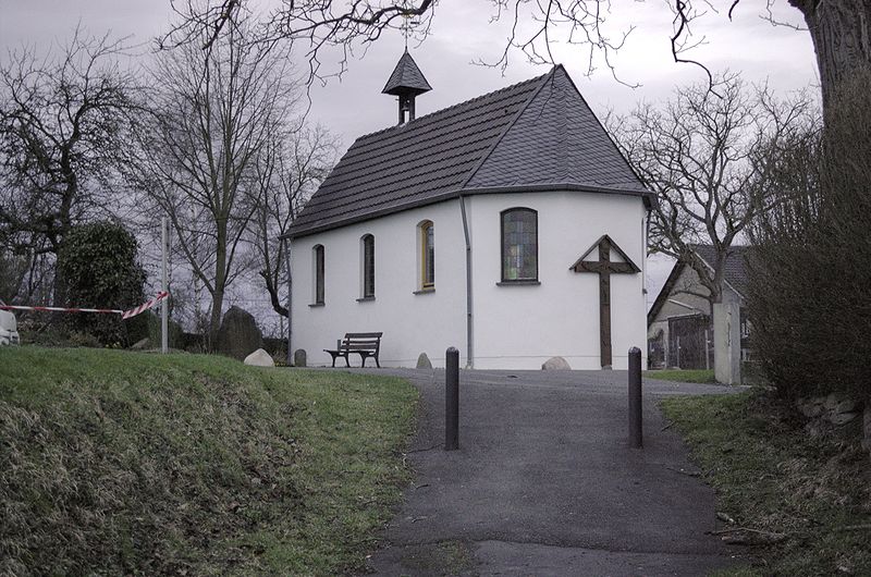
{"label": "spreading bare tree right of the chapel, before the background house", "polygon": [[[657,193],[651,249],[687,262],[711,304],[722,299],[729,250],[770,201],[777,151],[813,121],[806,95],[777,100],[736,74],[676,90],[663,109],[638,108],[611,121],[618,145],[645,185]],[[719,96],[717,96],[719,95]],[[713,270],[692,250],[710,244]]]}

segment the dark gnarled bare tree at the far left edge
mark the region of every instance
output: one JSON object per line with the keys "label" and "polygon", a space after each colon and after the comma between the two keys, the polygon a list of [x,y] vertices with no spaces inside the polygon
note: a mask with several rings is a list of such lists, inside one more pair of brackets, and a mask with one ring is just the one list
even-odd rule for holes
{"label": "dark gnarled bare tree at the far left edge", "polygon": [[60,56],[22,49],[0,66],[0,246],[29,262],[25,299],[71,228],[111,212],[135,86],[123,50],[76,30]]}

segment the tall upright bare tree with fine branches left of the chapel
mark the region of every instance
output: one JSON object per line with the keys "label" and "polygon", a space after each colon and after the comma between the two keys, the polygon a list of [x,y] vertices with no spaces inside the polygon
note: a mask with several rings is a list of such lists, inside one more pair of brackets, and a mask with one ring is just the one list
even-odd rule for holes
{"label": "tall upright bare tree with fine branches left of the chapel", "polygon": [[247,42],[246,32],[233,23],[207,51],[188,44],[158,54],[150,121],[132,162],[131,176],[169,217],[211,296],[211,346],[226,290],[244,272],[258,158],[270,135],[283,132],[295,94],[286,51]]}

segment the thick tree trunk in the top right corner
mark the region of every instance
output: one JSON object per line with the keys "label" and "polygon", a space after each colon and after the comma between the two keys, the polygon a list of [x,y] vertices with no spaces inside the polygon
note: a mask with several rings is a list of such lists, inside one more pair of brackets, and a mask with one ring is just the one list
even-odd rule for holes
{"label": "thick tree trunk in the top right corner", "polygon": [[871,0],[789,0],[805,16],[817,52],[823,109],[842,82],[871,69]]}

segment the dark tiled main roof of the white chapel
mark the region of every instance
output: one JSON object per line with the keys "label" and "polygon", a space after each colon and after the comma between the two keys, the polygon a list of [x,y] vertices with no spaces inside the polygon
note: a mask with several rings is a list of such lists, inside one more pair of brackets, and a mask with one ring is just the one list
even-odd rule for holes
{"label": "dark tiled main roof of the white chapel", "polygon": [[562,65],[357,138],[289,236],[461,195],[554,189],[653,198]]}

